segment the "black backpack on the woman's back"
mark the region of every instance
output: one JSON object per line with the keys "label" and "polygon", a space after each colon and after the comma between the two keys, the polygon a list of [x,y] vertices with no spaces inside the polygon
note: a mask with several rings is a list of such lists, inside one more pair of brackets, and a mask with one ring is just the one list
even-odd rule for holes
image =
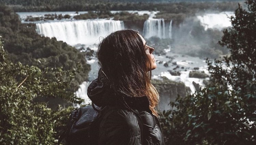
{"label": "black backpack on the woman's back", "polygon": [[93,103],[75,109],[70,114],[67,129],[59,137],[58,145],[64,138],[66,145],[97,145],[101,110]]}

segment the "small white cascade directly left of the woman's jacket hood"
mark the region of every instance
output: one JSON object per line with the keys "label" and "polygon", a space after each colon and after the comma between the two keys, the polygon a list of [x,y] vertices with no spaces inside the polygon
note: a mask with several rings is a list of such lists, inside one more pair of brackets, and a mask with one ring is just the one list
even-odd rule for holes
{"label": "small white cascade directly left of the woman's jacket hood", "polygon": [[83,104],[89,104],[91,103],[91,100],[87,96],[87,88],[90,85],[91,82],[83,82],[80,86],[79,89],[75,92],[75,95],[79,98],[84,99]]}

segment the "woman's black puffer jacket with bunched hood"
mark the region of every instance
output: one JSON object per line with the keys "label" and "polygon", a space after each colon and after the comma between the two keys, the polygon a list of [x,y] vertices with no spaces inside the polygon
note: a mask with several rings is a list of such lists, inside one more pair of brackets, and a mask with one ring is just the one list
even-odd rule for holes
{"label": "woman's black puffer jacket with bunched hood", "polygon": [[99,145],[163,145],[159,120],[144,97],[114,95],[109,86],[95,79],[88,87],[88,97],[99,106],[102,121]]}

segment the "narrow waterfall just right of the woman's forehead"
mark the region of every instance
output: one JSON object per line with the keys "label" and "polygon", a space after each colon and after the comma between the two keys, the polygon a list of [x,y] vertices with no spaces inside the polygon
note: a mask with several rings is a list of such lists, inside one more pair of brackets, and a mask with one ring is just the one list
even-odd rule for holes
{"label": "narrow waterfall just right of the woman's forehead", "polygon": [[144,22],[143,34],[145,38],[150,38],[153,36],[166,38],[165,20],[148,18]]}

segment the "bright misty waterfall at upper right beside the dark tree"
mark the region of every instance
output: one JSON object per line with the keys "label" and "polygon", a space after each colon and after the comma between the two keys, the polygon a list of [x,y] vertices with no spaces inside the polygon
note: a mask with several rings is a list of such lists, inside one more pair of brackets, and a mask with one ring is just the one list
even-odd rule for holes
{"label": "bright misty waterfall at upper right beside the dark tree", "polygon": [[209,28],[222,30],[225,27],[231,27],[230,16],[234,16],[233,12],[222,12],[218,14],[204,14],[203,16],[197,16],[201,25],[204,26],[204,30]]}

